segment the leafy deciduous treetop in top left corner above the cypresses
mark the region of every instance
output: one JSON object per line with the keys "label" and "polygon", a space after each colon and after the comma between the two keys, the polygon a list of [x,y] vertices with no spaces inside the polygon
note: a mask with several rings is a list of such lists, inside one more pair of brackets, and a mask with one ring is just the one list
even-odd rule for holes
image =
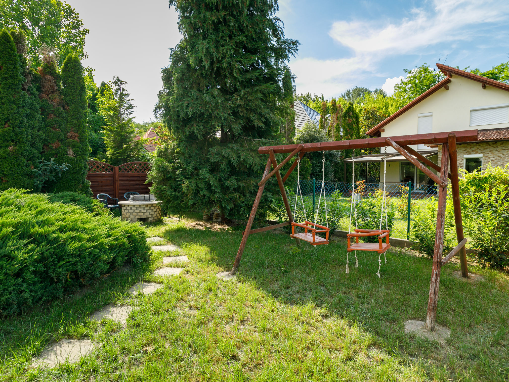
{"label": "leafy deciduous treetop in top left corner above the cypresses", "polygon": [[34,68],[42,63],[42,48],[52,47],[59,53],[59,65],[68,54],[87,58],[85,37],[78,13],[60,0],[0,0],[0,28],[22,30],[27,36],[27,54]]}

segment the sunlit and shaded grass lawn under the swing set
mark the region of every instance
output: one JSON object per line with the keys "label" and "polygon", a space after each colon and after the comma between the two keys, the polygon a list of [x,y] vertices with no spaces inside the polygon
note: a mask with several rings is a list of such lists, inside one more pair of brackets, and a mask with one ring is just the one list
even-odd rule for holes
{"label": "sunlit and shaded grass lawn under the swing set", "polygon": [[[440,345],[403,330],[426,318],[430,260],[394,250],[379,279],[377,255],[358,253],[359,268],[351,260],[347,275],[343,241],[299,249],[268,231],[249,237],[237,280],[224,281],[216,272],[231,269],[241,233],[199,229],[196,219],[147,227],[183,248],[190,262],[172,264],[183,274],[152,276],[162,263],[154,254],[79,295],[0,321],[2,380],[509,380],[507,274],[471,267],[484,281],[470,282],[453,276],[459,265],[443,267],[437,322],[451,336]],[[140,280],[164,287],[130,296]],[[137,309],[125,328],[88,319],[111,303]],[[29,366],[62,338],[101,346],[76,364]]]}

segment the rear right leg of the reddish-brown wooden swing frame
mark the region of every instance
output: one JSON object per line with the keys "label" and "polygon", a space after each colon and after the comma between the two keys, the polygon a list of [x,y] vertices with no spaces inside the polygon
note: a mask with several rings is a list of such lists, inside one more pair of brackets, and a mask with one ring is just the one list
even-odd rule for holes
{"label": "rear right leg of the reddish-brown wooden swing frame", "polygon": [[[461,218],[461,205],[460,205],[460,185],[458,181],[458,150],[456,149],[456,134],[451,132],[449,134],[449,158],[450,158],[450,175],[451,175],[451,189],[453,191],[453,206],[454,206],[454,221],[456,223],[456,237],[458,243],[463,238],[463,220]],[[460,262],[461,262],[461,276],[468,277],[467,266],[467,250],[465,245],[460,249]]]}

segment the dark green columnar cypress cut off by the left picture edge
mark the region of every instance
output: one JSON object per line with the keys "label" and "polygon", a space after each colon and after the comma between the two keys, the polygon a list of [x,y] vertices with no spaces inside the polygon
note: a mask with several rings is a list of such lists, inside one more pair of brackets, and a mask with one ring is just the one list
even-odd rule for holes
{"label": "dark green columnar cypress cut off by the left picture edge", "polygon": [[22,90],[24,78],[16,45],[10,33],[0,33],[0,190],[32,188],[30,167],[24,155],[29,148],[26,136]]}

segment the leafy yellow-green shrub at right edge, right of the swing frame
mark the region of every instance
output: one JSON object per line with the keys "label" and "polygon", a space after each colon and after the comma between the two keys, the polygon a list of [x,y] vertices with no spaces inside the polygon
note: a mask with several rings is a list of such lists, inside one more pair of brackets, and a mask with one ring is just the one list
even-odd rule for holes
{"label": "leafy yellow-green shrub at right edge, right of the swing frame", "polygon": [[470,245],[477,251],[478,259],[485,265],[501,269],[509,266],[509,185],[499,184],[484,192],[462,195],[464,225]]}

